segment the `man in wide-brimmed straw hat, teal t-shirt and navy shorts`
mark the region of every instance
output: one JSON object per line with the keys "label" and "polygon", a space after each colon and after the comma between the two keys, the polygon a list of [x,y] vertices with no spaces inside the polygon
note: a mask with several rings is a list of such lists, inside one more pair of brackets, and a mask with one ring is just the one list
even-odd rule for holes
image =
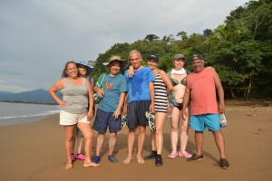
{"label": "man in wide-brimmed straw hat, teal t-shirt and navy shorts", "polygon": [[103,73],[98,78],[93,89],[102,99],[99,102],[96,117],[92,126],[93,130],[98,131],[96,154],[92,159],[92,162],[100,162],[100,152],[104,135],[107,128],[109,128],[110,140],[108,159],[112,163],[117,163],[118,159],[113,156],[113,149],[116,143],[117,131],[120,130],[121,126],[121,107],[123,105],[125,93],[128,89],[127,81],[120,73],[120,70],[127,67],[128,61],[121,60],[120,56],[112,56],[110,62],[103,62],[103,65],[110,69],[110,73],[105,74],[105,76]]}

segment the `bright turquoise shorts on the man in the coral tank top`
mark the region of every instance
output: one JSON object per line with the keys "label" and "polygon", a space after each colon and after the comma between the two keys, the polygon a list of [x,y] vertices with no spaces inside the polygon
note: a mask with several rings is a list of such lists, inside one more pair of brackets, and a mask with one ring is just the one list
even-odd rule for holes
{"label": "bright turquoise shorts on the man in the coral tank top", "polygon": [[206,127],[209,131],[221,130],[219,114],[201,114],[190,116],[189,129],[204,131]]}

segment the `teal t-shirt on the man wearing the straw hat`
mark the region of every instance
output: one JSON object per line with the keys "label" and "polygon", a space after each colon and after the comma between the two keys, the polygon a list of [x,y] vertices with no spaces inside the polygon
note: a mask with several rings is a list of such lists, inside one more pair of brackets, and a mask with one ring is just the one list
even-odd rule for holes
{"label": "teal t-shirt on the man wearing the straw hat", "polygon": [[[98,78],[98,82],[102,81],[102,76],[103,74]],[[128,91],[127,81],[121,73],[114,77],[106,74],[102,81],[102,89],[104,90],[105,95],[100,100],[98,109],[107,112],[114,112],[117,109],[120,94]]]}

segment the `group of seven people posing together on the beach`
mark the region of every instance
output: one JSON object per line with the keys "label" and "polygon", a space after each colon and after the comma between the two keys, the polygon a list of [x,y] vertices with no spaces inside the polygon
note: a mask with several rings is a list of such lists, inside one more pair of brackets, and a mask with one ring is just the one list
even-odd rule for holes
{"label": "group of seven people posing together on the beach", "polygon": [[[65,168],[73,167],[74,158],[83,159],[84,167],[101,166],[101,150],[107,129],[110,132],[108,159],[117,163],[118,159],[113,155],[113,151],[117,132],[121,129],[121,114],[126,115],[126,125],[129,129],[128,155],[123,163],[130,164],[133,159],[132,150],[138,129],[137,162],[144,164],[145,160],[155,159],[155,166],[162,166],[162,129],[169,112],[172,149],[169,158],[185,157],[188,161],[202,159],[203,131],[208,128],[212,131],[219,148],[219,166],[228,168],[224,137],[219,124],[219,113],[225,111],[224,91],[219,75],[211,67],[204,68],[200,54],[192,55],[191,59],[193,72],[189,73],[183,68],[185,57],[176,54],[173,60],[174,68],[166,73],[157,67],[160,62],[158,55],[151,54],[148,58],[149,67],[145,67],[141,64],[141,52],[132,50],[129,60],[122,60],[120,56],[114,55],[110,62],[103,62],[110,73],[102,73],[95,85],[88,76],[90,67],[87,64],[67,62],[62,79],[49,90],[53,99],[62,107],[60,124],[63,125],[65,133]],[[129,69],[122,75],[120,71],[128,66]],[[56,96],[57,90],[62,91],[63,100]],[[101,100],[91,127],[94,115],[92,91],[96,92]],[[150,155],[142,157],[146,127],[149,125],[152,125],[152,150]],[[73,157],[76,128],[82,131],[85,140],[85,156],[78,149],[77,155]],[[192,155],[186,151],[189,128],[195,130],[196,153]],[[98,136],[95,157],[91,160],[92,129],[98,132]],[[180,150],[177,148],[179,129]]]}

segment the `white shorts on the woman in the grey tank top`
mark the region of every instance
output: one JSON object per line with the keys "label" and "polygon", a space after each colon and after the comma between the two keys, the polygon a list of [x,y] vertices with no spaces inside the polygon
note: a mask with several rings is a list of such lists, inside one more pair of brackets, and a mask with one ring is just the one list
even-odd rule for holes
{"label": "white shorts on the woman in the grey tank top", "polygon": [[91,121],[87,120],[87,112],[74,114],[74,113],[61,110],[60,125],[68,126],[68,125],[77,124],[78,122],[91,123]]}

